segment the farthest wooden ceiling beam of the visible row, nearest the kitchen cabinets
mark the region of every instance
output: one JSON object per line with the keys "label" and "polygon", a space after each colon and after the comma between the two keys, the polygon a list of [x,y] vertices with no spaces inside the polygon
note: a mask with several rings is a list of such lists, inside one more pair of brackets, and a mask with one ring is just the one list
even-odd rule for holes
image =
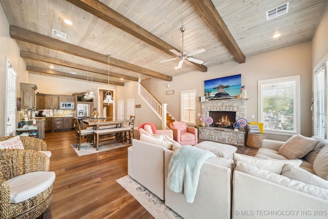
{"label": "farthest wooden ceiling beam of the visible row, nearest the kitchen cabinets", "polygon": [[[74,78],[74,79],[81,79],[81,80],[85,80],[85,81],[88,81],[88,79],[89,79],[89,77],[82,76],[82,75],[74,75],[74,74],[70,74],[70,73],[66,73],[66,72],[54,71],[54,70],[39,68],[39,67],[35,67],[35,66],[26,66],[26,70],[31,71],[31,73],[37,72],[37,73],[49,74],[52,76],[62,76],[62,77],[70,77],[70,78]],[[93,78],[92,81],[108,84],[108,80],[103,80],[103,79],[98,79],[98,78]],[[111,82],[111,81],[109,83],[112,85],[124,86],[124,83]]]}

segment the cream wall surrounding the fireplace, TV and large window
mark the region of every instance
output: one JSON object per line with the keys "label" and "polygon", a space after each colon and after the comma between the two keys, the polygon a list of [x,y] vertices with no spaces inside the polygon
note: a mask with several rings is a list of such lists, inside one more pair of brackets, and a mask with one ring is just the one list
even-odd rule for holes
{"label": "cream wall surrounding the fireplace, TV and large window", "polygon": [[[197,89],[197,96],[204,95],[204,81],[217,77],[241,74],[242,85],[247,87],[249,100],[245,103],[245,117],[249,122],[257,121],[257,81],[300,75],[301,78],[301,134],[311,136],[311,43],[302,43],[283,49],[265,52],[246,58],[246,62],[228,62],[208,68],[208,72],[190,72],[173,78],[172,82],[150,78],[142,84],[153,93],[161,103],[168,104],[168,111],[180,119],[180,91]],[[167,88],[170,84],[170,88]],[[166,95],[166,91],[174,90],[173,95]],[[198,98],[198,97],[197,97]],[[197,113],[201,112],[201,105],[197,101]],[[255,118],[252,118],[252,115]],[[197,116],[197,124],[199,124]],[[267,135],[270,139],[286,140],[289,136]]]}

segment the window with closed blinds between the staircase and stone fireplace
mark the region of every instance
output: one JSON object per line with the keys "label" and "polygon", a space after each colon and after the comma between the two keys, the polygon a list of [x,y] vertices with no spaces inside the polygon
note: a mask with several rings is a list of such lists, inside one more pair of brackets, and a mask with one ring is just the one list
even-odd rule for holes
{"label": "window with closed blinds between the staircase and stone fireplace", "polygon": [[181,121],[196,125],[196,90],[181,91]]}

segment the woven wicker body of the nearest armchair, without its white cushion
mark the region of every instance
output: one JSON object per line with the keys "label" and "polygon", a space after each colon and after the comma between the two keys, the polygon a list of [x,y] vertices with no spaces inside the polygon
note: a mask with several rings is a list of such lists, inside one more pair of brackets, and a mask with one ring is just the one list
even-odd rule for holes
{"label": "woven wicker body of the nearest armchair, without its white cushion", "polygon": [[49,157],[26,149],[0,150],[0,218],[42,218],[52,200],[52,185],[19,203],[10,203],[7,180],[36,171],[49,171]]}

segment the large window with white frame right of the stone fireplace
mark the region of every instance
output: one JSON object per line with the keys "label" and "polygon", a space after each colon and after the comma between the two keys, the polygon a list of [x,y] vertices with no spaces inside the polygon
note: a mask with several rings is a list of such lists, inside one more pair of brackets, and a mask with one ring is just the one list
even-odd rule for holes
{"label": "large window with white frame right of the stone fireplace", "polygon": [[299,75],[258,81],[259,120],[267,133],[300,133]]}

